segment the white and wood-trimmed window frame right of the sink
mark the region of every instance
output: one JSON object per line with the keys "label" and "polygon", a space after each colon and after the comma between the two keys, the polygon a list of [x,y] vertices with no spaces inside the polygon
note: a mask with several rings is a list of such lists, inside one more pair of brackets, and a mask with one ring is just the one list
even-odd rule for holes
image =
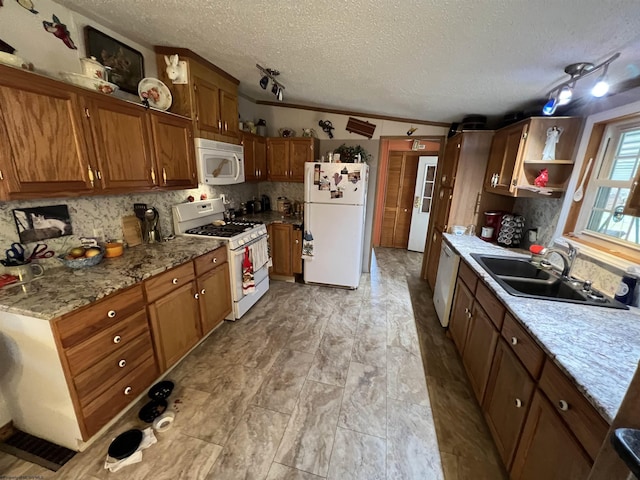
{"label": "white and wood-trimmed window frame right of the sink", "polygon": [[[592,179],[598,171],[598,154],[603,146],[607,127],[614,124],[640,122],[640,102],[633,102],[618,108],[600,112],[587,118],[580,145],[576,155],[574,172],[569,182],[567,194],[563,202],[560,217],[555,232],[555,242],[559,244],[575,244],[586,255],[597,258],[608,264],[619,268],[627,268],[632,264],[640,263],[640,248],[616,242],[615,239],[601,238],[599,235],[585,234],[577,231],[580,226],[579,219],[584,218],[584,210],[593,203],[593,196],[588,198],[585,194],[580,202],[573,201],[573,192],[577,188],[578,182],[585,173],[588,177],[585,180],[585,193],[593,191]],[[593,158],[593,166],[590,172],[585,172],[589,158]],[[640,171],[636,175],[636,179]],[[591,188],[590,188],[591,187]],[[582,217],[581,217],[582,214]],[[583,225],[586,225],[584,223]]]}

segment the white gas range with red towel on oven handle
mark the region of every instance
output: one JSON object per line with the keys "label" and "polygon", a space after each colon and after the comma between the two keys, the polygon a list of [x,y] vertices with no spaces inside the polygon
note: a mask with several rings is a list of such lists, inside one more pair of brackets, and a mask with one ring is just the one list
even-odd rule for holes
{"label": "white gas range with red towel on oven handle", "polygon": [[[181,203],[172,208],[176,235],[209,237],[227,242],[233,310],[227,320],[241,318],[269,290],[269,255],[267,228],[258,222],[233,221],[224,225],[222,198]],[[242,288],[243,260],[246,252],[253,264],[255,291],[245,293]]]}

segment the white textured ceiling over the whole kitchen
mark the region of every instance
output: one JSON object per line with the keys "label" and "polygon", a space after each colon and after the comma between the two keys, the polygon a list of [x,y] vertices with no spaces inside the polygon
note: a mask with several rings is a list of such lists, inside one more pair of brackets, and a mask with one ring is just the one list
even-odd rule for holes
{"label": "white textured ceiling over the whole kitchen", "polygon": [[638,0],[56,1],[189,48],[256,100],[274,100],[256,63],[280,70],[286,103],[444,122],[526,108],[565,65],[617,51],[612,79],[640,74]]}

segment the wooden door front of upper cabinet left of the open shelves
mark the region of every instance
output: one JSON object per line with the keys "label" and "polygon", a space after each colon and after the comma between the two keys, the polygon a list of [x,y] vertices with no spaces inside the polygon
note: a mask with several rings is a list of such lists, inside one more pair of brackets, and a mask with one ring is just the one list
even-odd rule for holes
{"label": "wooden door front of upper cabinet left of the open shelves", "polygon": [[[522,164],[528,128],[528,123],[519,123],[494,135],[485,176],[488,191],[507,195],[516,191],[514,183]],[[492,181],[494,175],[497,177]]]}

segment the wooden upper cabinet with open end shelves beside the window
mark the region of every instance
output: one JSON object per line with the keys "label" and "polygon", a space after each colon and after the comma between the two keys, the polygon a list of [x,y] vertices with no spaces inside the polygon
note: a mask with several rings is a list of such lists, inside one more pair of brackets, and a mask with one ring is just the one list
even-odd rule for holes
{"label": "wooden upper cabinet with open end shelves beside the window", "polygon": [[[534,180],[546,168],[545,193],[560,196],[571,177],[580,126],[577,117],[533,117],[498,130],[491,144],[485,189],[512,197],[536,195],[540,189]],[[562,132],[555,145],[555,160],[543,160],[547,131],[553,127]]]}

